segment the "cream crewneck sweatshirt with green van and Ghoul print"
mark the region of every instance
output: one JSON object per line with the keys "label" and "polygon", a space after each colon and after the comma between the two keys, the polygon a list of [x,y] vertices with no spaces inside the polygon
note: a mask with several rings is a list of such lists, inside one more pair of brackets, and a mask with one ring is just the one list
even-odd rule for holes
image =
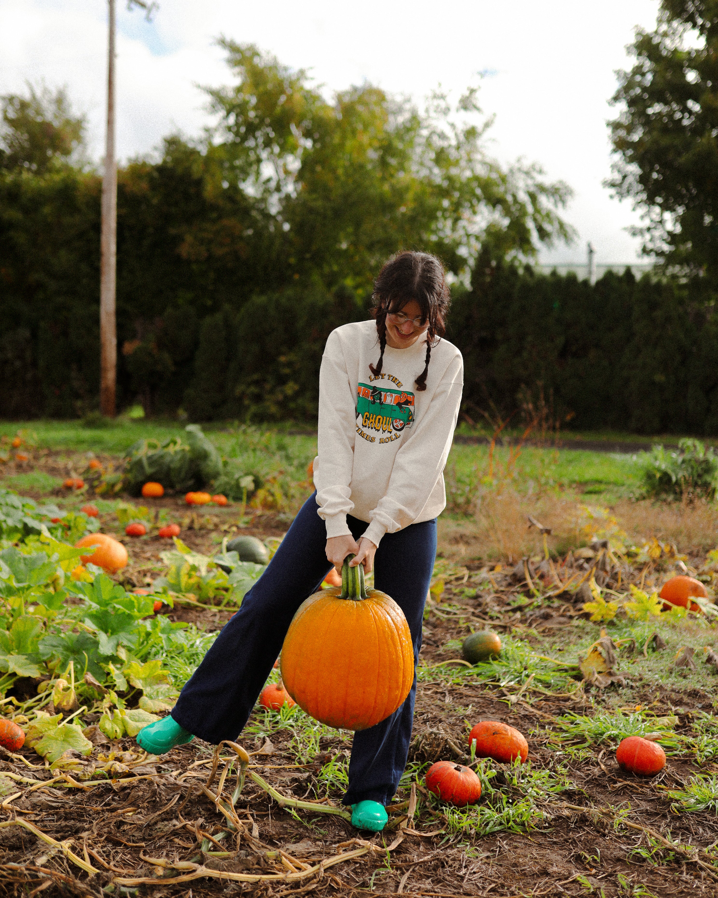
{"label": "cream crewneck sweatshirt with green van and Ghoul print", "polygon": [[319,454],[314,486],[327,537],[351,535],[346,515],[384,533],[430,521],[446,506],[443,469],[463,387],[460,351],[441,339],[432,348],[426,390],[416,390],[425,365],[424,336],[407,349],[384,350],[381,374],[375,321],[333,330],[320,370]]}

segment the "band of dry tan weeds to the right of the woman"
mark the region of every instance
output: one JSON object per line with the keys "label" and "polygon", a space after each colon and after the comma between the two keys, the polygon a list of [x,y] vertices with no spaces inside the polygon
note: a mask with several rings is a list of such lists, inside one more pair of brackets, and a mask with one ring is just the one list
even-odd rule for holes
{"label": "band of dry tan weeds to the right of the woman", "polygon": [[653,538],[674,543],[679,552],[713,549],[718,544],[718,505],[620,500],[610,507],[589,505],[574,493],[526,496],[512,489],[487,490],[473,518],[440,518],[440,548],[447,558],[513,562],[543,552],[531,515],[550,527],[548,546],[558,554],[587,545],[594,533],[621,530],[640,545]]}

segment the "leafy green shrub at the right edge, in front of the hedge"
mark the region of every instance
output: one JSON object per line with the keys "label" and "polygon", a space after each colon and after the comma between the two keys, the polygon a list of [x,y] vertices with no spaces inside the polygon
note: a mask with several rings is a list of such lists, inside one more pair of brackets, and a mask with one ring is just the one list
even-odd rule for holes
{"label": "leafy green shrub at the right edge, in front of the hedge", "polygon": [[699,440],[680,440],[678,450],[653,446],[644,462],[647,496],[713,499],[717,488],[718,457]]}

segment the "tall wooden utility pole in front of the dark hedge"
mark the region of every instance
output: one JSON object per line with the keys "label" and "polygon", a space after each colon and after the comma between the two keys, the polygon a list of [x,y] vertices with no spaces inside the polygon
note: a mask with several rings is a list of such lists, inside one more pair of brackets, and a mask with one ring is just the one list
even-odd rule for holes
{"label": "tall wooden utility pole in front of the dark hedge", "polygon": [[109,4],[107,63],[107,139],[102,175],[102,232],[100,262],[100,410],[115,417],[118,337],[115,314],[117,285],[118,168],[115,161],[115,0]]}

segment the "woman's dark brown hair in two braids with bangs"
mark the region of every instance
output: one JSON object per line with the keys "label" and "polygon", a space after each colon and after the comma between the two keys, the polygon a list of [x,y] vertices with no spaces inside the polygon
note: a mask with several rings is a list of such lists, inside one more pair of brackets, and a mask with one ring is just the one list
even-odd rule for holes
{"label": "woman's dark brown hair in two braids with bangs", "polygon": [[379,277],[374,281],[372,315],[376,318],[380,355],[376,365],[369,365],[375,376],[381,374],[384,349],[387,345],[387,313],[400,312],[407,303],[416,299],[421,309],[422,323],[429,322],[426,330],[426,364],[416,378],[416,389],[426,389],[426,375],[432,347],[446,332],[446,314],[451,295],[446,283],[442,263],[428,252],[404,251],[384,263]]}

